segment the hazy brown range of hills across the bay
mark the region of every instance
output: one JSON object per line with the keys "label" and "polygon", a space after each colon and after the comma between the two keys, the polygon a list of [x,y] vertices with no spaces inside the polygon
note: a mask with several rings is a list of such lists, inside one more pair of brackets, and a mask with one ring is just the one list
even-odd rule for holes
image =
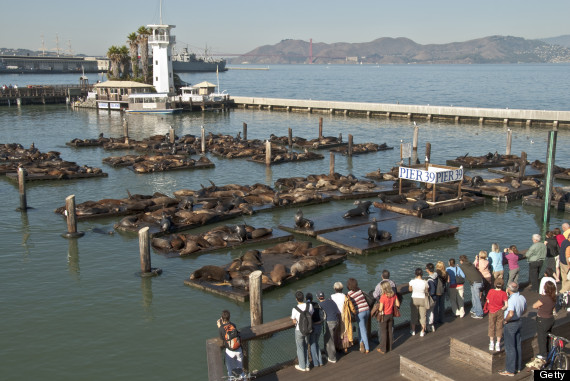
{"label": "hazy brown range of hills across the bay", "polygon": [[[309,42],[282,40],[260,46],[234,63],[309,63]],[[489,36],[465,42],[421,45],[408,38],[378,38],[364,43],[313,43],[317,64],[479,64],[570,62],[570,49],[544,41],[512,36]]]}

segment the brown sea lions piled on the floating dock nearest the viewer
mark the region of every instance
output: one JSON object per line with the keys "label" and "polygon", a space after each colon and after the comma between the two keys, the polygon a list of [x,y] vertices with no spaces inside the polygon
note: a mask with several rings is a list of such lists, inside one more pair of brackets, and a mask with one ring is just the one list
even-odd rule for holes
{"label": "brown sea lions piled on the floating dock nearest the viewer", "polygon": [[[287,257],[276,257],[288,255]],[[241,257],[233,260],[229,265],[203,266],[192,272],[190,279],[209,282],[221,282],[236,288],[248,289],[249,275],[256,270],[262,271],[262,283],[281,285],[289,277],[296,277],[308,271],[315,270],[323,264],[344,256],[345,252],[329,245],[312,247],[309,241],[288,241],[269,247],[263,251],[248,250]],[[279,258],[277,263],[266,268],[266,264],[275,262],[272,258]],[[286,258],[289,258],[288,260]],[[285,261],[283,263],[282,261]],[[293,263],[289,264],[293,260]]]}

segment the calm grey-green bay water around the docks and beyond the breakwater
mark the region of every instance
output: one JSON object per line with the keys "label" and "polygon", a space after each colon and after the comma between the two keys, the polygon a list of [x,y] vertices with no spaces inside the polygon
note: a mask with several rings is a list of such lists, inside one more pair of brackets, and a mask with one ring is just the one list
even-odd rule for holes
{"label": "calm grey-green bay water around the docks and beyond the breakwater", "polygon": [[[230,70],[220,74],[220,87],[230,94],[322,100],[441,104],[476,107],[509,107],[568,110],[569,65],[467,65],[467,66],[275,66],[268,71]],[[215,74],[186,74],[191,83],[208,80]],[[94,82],[97,77],[90,77]],[[75,76],[0,76],[0,83],[23,86],[31,83],[75,83]],[[172,125],[176,133],[199,135],[206,131],[237,134],[248,124],[250,138],[269,134],[314,138],[319,117],[324,118],[324,134],[354,135],[355,143],[386,142],[397,146],[410,141],[413,125],[407,120],[352,118],[253,110],[230,113],[192,113],[168,117],[128,116],[130,131],[140,139],[165,133]],[[81,181],[31,183],[28,185],[27,214],[16,212],[17,185],[0,180],[2,293],[0,312],[3,343],[0,371],[7,380],[203,380],[207,378],[205,340],[215,336],[215,320],[220,311],[230,309],[238,326],[249,324],[249,304],[230,301],[183,284],[196,268],[222,265],[241,255],[233,250],[186,259],[166,259],[153,254],[153,267],[163,269],[160,277],[141,279],[138,239],[131,235],[100,235],[95,227],[111,230],[114,219],[80,222],[83,238],[61,238],[65,221],[53,213],[76,195],[77,202],[122,198],[131,193],[197,189],[212,180],[228,183],[273,185],[281,177],[328,172],[328,160],[285,164],[271,169],[243,160],[221,160],[209,156],[216,168],[196,172],[138,175],[127,169],[113,169],[102,158],[118,155],[100,148],[73,149],[65,142],[75,137],[122,135],[118,113],[94,110],[73,111],[66,106],[26,106],[0,108],[0,143],[32,142],[41,151],[56,150],[66,160],[102,167],[108,178]],[[420,125],[420,155],[426,142],[432,144],[435,163],[444,163],[469,152],[481,155],[504,152],[506,129],[449,123]],[[515,153],[526,151],[530,160],[545,160],[548,129],[512,127]],[[558,133],[556,164],[570,166],[570,133]],[[337,172],[357,177],[378,167],[392,167],[398,150],[363,155],[352,159],[337,156]],[[568,183],[557,183],[565,186]],[[306,216],[344,213],[349,202],[333,202],[304,208]],[[246,217],[254,226],[277,226],[292,221],[295,210],[262,213]],[[553,212],[552,226],[564,221]],[[501,246],[530,245],[530,236],[541,225],[541,210],[520,202],[499,204],[487,200],[485,206],[436,220],[459,226],[453,238],[412,246],[387,253],[352,257],[345,264],[264,295],[265,321],[288,316],[297,289],[330,293],[332,284],[355,277],[363,289],[374,287],[380,272],[390,269],[398,283],[412,278],[413,269],[428,261],[447,260],[460,254],[474,256],[490,250],[492,242]],[[231,222],[228,222],[231,223]],[[526,274],[523,274],[526,279]],[[293,338],[291,338],[293,346]]]}

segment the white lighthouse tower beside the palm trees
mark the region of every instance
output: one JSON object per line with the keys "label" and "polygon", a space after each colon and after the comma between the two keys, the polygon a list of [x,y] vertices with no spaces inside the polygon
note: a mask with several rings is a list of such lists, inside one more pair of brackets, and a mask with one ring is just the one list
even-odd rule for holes
{"label": "white lighthouse tower beside the palm trees", "polygon": [[157,93],[167,93],[174,95],[174,78],[172,77],[172,57],[170,48],[171,44],[176,43],[176,37],[170,34],[170,30],[175,25],[162,24],[162,15],[160,17],[160,25],[147,25],[152,31],[149,36],[148,44],[152,47],[152,84]]}

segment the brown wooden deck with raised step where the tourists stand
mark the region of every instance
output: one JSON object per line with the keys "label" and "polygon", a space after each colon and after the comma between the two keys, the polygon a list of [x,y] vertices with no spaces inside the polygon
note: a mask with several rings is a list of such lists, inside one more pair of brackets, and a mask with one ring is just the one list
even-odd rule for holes
{"label": "brown wooden deck with raised step where the tourists stand", "polygon": [[[536,346],[536,325],[531,306],[537,294],[523,291],[528,311],[523,317],[523,366],[533,356]],[[466,315],[463,319],[446,315],[445,323],[425,337],[410,336],[408,326],[394,331],[394,350],[381,355],[376,352],[377,342],[371,343],[368,354],[360,353],[356,346],[348,354],[337,354],[335,364],[299,372],[288,366],[276,373],[256,378],[256,381],[313,381],[313,380],[505,380],[497,371],[504,369],[505,352],[489,352],[487,337],[488,317],[475,320]],[[558,312],[553,332],[568,337],[570,316]],[[533,340],[534,338],[534,340]],[[291,345],[294,346],[291,333]],[[477,359],[476,366],[458,359],[462,353]],[[534,349],[534,352],[536,350]],[[340,355],[340,357],[338,357]],[[402,372],[402,373],[401,373]],[[406,375],[404,377],[402,374]],[[530,373],[521,372],[510,379],[529,379]]]}

